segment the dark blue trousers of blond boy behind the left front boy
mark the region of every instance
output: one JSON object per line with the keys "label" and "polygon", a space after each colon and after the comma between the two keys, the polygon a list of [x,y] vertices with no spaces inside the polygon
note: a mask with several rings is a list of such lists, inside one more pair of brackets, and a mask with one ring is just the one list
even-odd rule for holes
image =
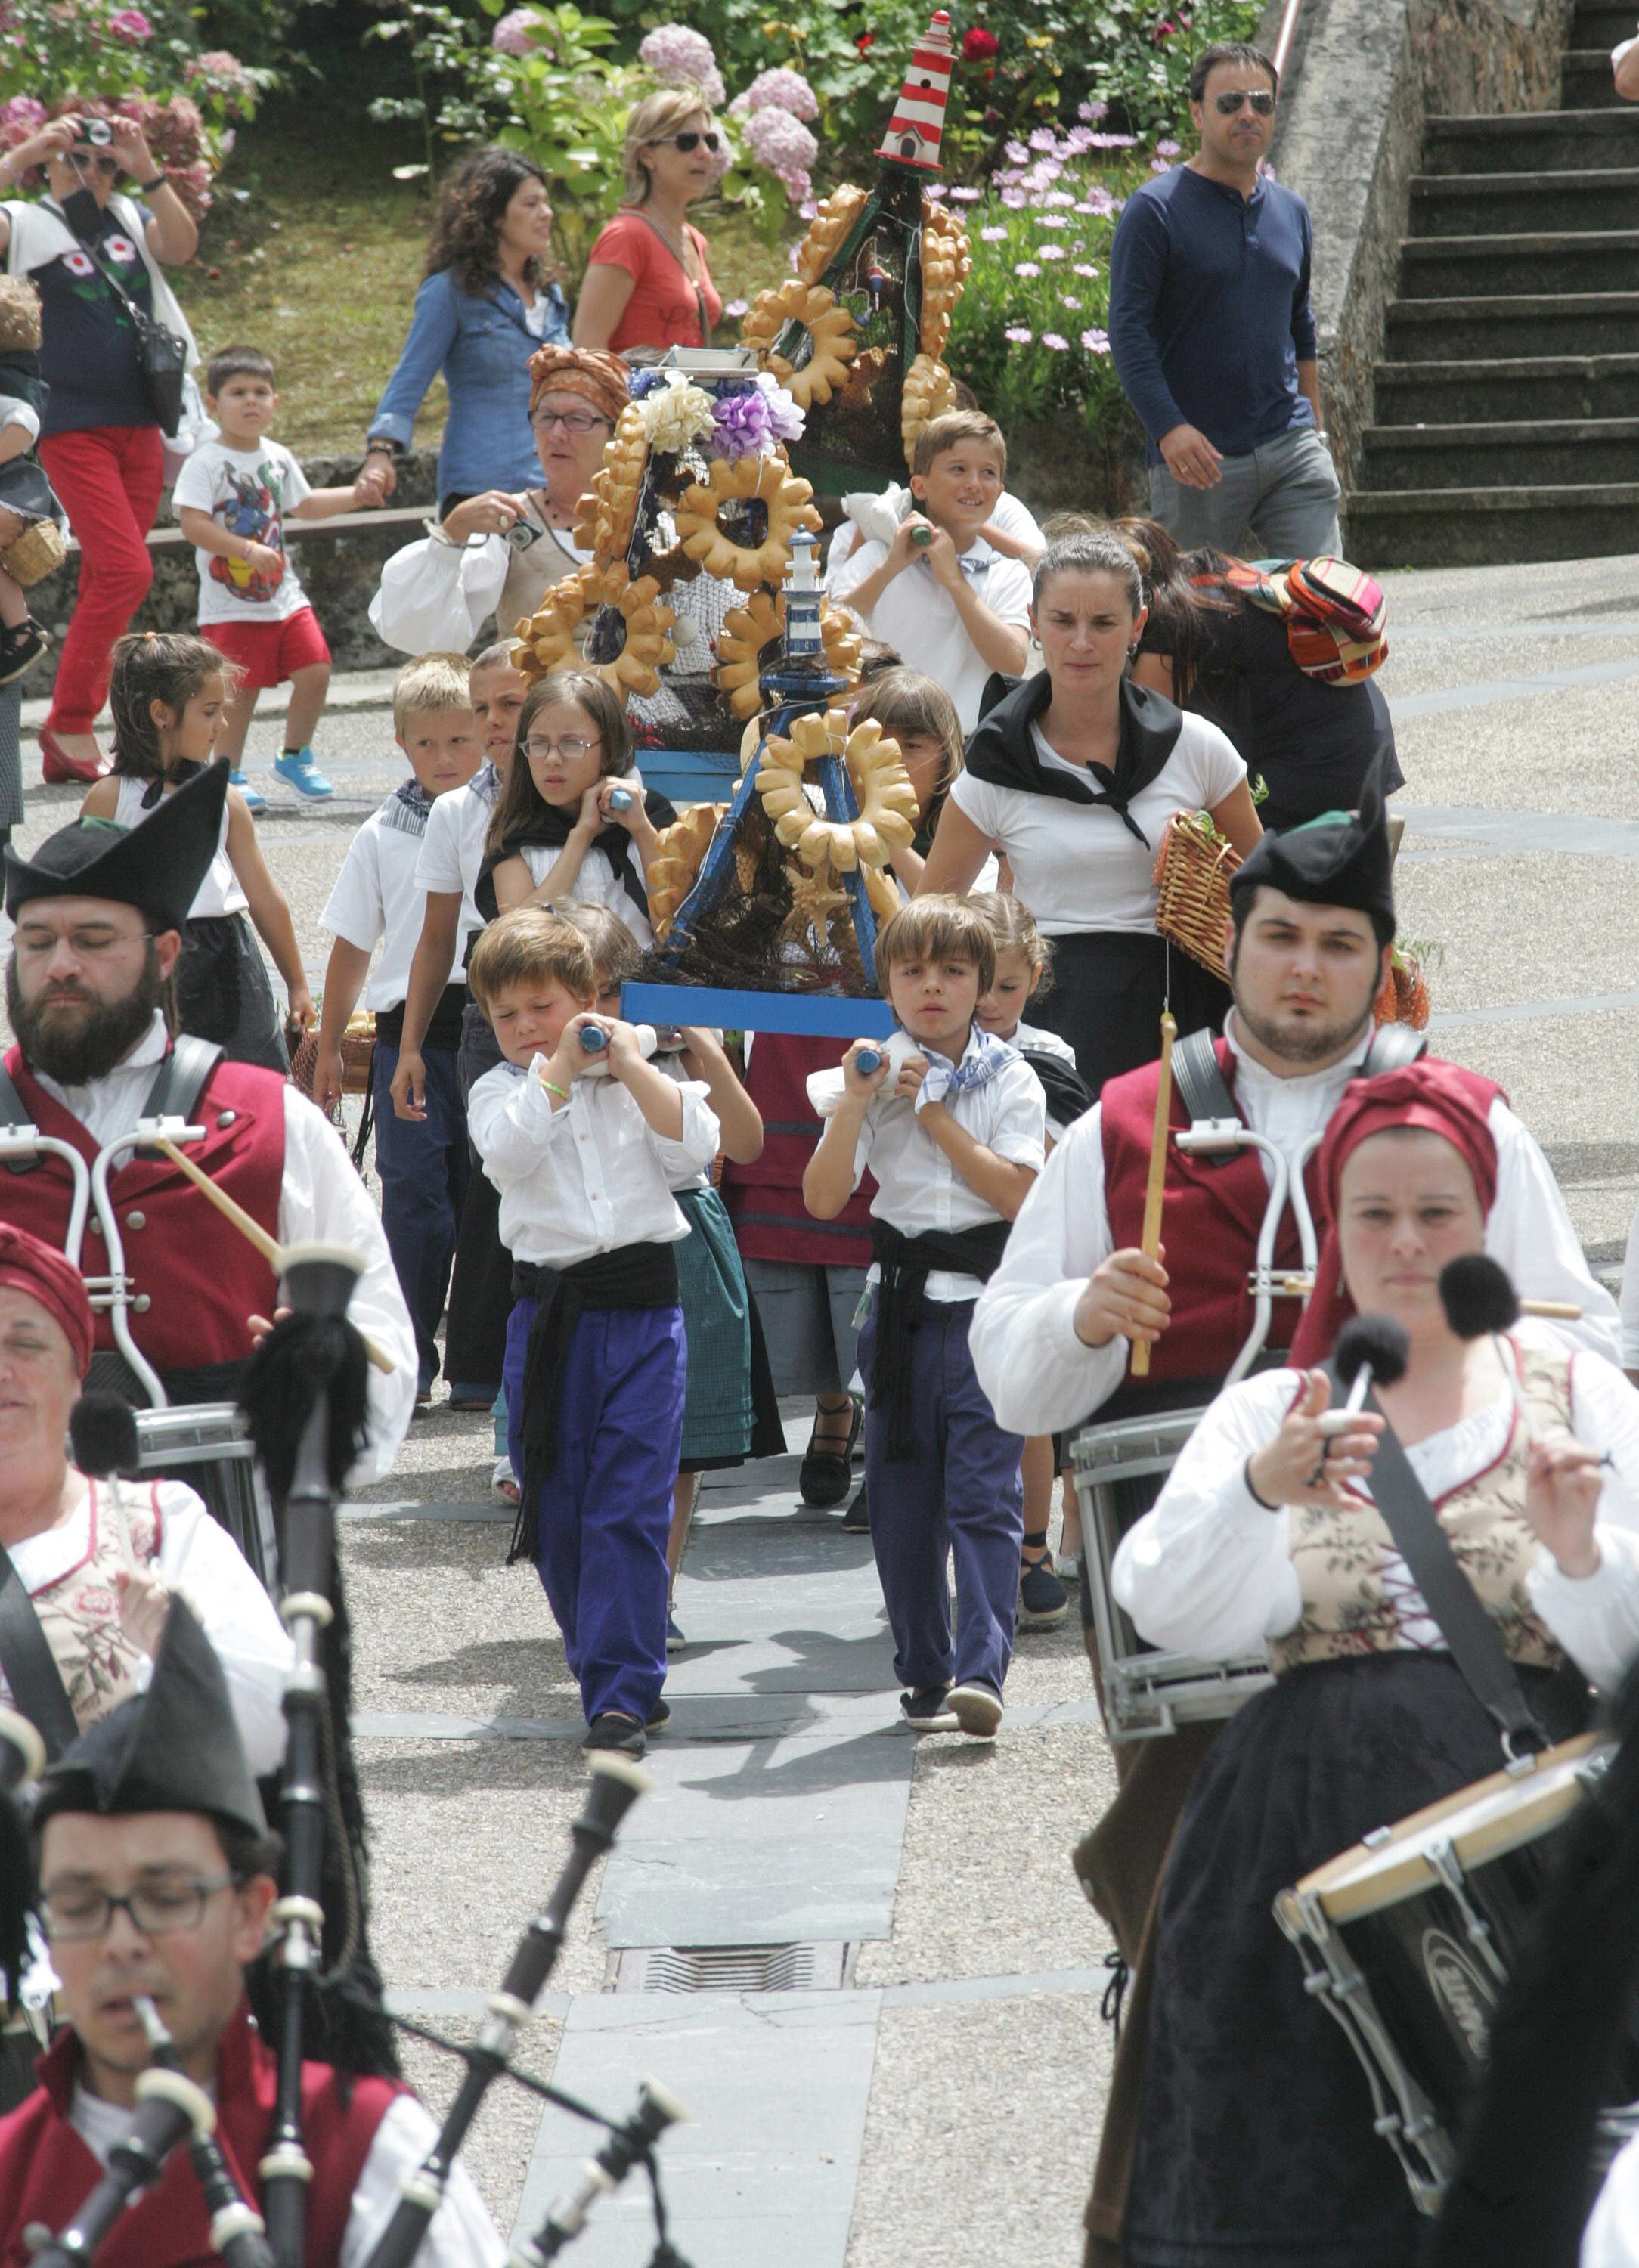
{"label": "dark blue trousers of blond boy behind the left front boy", "polygon": [[444,1318],[456,1229],[467,1202],[467,1107],[456,1084],[456,1050],[422,1048],[422,1061],[424,1120],[399,1118],[392,1109],[397,1048],[376,1041],[370,1077],[376,1089],[381,1227],[415,1325],[415,1383],[426,1393],[438,1377],[438,1325]]}

